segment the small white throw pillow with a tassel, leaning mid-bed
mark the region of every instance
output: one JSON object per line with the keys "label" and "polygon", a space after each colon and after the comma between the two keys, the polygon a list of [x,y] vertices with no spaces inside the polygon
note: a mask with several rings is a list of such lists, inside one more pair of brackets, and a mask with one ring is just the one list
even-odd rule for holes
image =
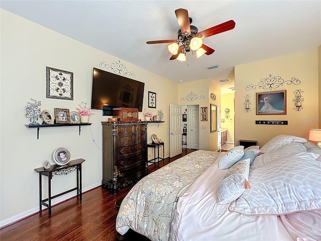
{"label": "small white throw pillow with a tassel, leaning mid-bed", "polygon": [[245,189],[249,189],[248,182],[250,170],[250,159],[235,163],[223,178],[219,186],[218,203],[229,203],[234,201]]}

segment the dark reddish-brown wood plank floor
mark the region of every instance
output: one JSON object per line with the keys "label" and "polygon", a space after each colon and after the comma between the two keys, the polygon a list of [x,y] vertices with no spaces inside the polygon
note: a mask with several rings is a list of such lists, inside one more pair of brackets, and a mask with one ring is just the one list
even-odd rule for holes
{"label": "dark reddish-brown wood plank floor", "polygon": [[[183,149],[182,155],[167,158],[165,165],[193,151]],[[162,166],[163,162],[159,163],[159,167]],[[150,165],[148,173],[153,171],[154,165]],[[115,241],[115,202],[125,197],[130,188],[120,190],[117,195],[111,195],[109,190],[101,187],[94,188],[83,193],[81,204],[77,201],[78,197],[73,197],[53,206],[51,218],[48,217],[48,209],[45,209],[1,228],[0,240]]]}

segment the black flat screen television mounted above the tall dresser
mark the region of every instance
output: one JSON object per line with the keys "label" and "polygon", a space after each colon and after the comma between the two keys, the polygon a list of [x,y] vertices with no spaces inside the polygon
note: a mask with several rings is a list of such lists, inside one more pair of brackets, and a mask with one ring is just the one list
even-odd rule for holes
{"label": "black flat screen television mounted above the tall dresser", "polygon": [[141,111],[144,85],[143,82],[94,68],[91,108],[102,109],[103,115],[112,115],[112,109],[117,107]]}

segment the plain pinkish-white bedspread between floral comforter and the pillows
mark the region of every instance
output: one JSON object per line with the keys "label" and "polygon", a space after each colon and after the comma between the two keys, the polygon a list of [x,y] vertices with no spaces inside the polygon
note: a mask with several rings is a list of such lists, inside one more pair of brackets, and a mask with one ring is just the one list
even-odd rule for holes
{"label": "plain pinkish-white bedspread between floral comforter and the pillows", "polygon": [[[244,216],[217,204],[218,187],[227,170],[218,160],[179,197],[171,227],[172,241],[277,241],[277,216]],[[281,241],[292,240],[282,239]]]}

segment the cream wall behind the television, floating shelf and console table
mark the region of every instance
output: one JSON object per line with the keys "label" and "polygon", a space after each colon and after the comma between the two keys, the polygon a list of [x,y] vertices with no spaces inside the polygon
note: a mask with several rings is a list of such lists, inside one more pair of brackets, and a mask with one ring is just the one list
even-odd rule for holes
{"label": "cream wall behind the television, floating shelf and console table", "polygon": [[[52,164],[56,148],[66,147],[72,159],[84,158],[83,191],[101,185],[102,180],[102,116],[96,110],[90,117],[92,125],[28,129],[25,106],[31,98],[40,100],[41,109],[52,113],[54,108],[75,110],[82,101],[91,102],[93,67],[105,61],[111,64],[119,58],[98,51],[71,38],[37,25],[1,9],[1,226],[39,211],[39,176],[35,168],[44,161]],[[147,92],[156,92],[156,109],[162,109],[164,121],[148,124],[148,142],[156,134],[165,142],[165,156],[169,156],[169,104],[178,103],[178,84],[120,60],[136,80],[145,83],[143,108],[147,107]],[[46,98],[46,66],[74,73],[74,100]],[[88,104],[87,104],[88,106]],[[143,119],[142,113],[139,118]],[[39,120],[40,122],[40,120]],[[93,140],[95,142],[93,142]],[[150,153],[152,150],[148,150]],[[52,194],[69,190],[76,185],[76,173],[54,177]],[[44,197],[47,197],[44,182]],[[75,195],[66,194],[53,204]],[[23,201],[22,201],[23,200]]]}

